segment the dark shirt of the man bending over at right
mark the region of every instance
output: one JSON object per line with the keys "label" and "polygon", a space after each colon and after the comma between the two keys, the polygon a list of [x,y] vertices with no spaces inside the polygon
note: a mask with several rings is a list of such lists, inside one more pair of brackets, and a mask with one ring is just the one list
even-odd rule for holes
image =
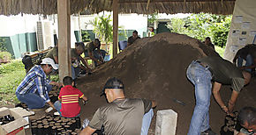
{"label": "dark shirt of the man bending over at right", "polygon": [[224,60],[221,57],[205,57],[198,61],[209,66],[214,82],[231,85],[231,88],[237,92],[240,92],[244,87],[245,79],[242,71],[230,61]]}

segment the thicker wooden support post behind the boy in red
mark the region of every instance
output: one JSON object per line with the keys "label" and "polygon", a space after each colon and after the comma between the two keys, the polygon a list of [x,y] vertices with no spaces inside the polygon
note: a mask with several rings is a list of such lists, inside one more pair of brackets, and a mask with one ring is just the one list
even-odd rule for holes
{"label": "thicker wooden support post behind the boy in red", "polygon": [[59,80],[72,76],[71,67],[71,4],[70,0],[57,0]]}

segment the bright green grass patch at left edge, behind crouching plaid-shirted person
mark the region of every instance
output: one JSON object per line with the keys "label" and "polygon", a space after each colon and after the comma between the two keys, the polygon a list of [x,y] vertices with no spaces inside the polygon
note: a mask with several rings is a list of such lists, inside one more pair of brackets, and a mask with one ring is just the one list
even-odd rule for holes
{"label": "bright green grass patch at left edge, behind crouching plaid-shirted person", "polygon": [[21,60],[0,65],[0,105],[19,103],[15,90],[25,75]]}

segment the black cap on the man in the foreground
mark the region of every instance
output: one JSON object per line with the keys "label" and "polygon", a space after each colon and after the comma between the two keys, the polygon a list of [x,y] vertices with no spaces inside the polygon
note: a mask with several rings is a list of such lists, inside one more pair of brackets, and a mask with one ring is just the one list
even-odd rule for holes
{"label": "black cap on the man in the foreground", "polygon": [[102,95],[105,94],[105,89],[124,89],[124,83],[121,82],[116,77],[110,78],[104,85],[104,88],[102,89]]}

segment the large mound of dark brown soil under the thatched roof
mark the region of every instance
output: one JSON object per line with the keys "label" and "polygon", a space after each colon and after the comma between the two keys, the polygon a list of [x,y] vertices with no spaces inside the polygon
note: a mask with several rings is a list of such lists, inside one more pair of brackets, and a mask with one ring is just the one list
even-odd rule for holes
{"label": "large mound of dark brown soil under the thatched roof", "polygon": [[[79,79],[78,88],[89,98],[89,103],[82,106],[81,117],[91,119],[94,111],[106,103],[105,98],[100,97],[101,89],[110,77],[117,77],[124,82],[127,97],[154,99],[158,103],[156,110],[177,111],[177,134],[184,135],[188,131],[195,104],[194,88],[187,80],[185,71],[192,60],[207,55],[218,56],[218,53],[185,35],[161,33],[152,38],[139,39],[118,53],[116,58],[96,68],[94,75]],[[222,91],[225,91],[228,100],[230,90]],[[219,131],[224,113],[213,98],[211,102],[210,124],[213,130]],[[155,117],[152,132],[154,124]]]}

